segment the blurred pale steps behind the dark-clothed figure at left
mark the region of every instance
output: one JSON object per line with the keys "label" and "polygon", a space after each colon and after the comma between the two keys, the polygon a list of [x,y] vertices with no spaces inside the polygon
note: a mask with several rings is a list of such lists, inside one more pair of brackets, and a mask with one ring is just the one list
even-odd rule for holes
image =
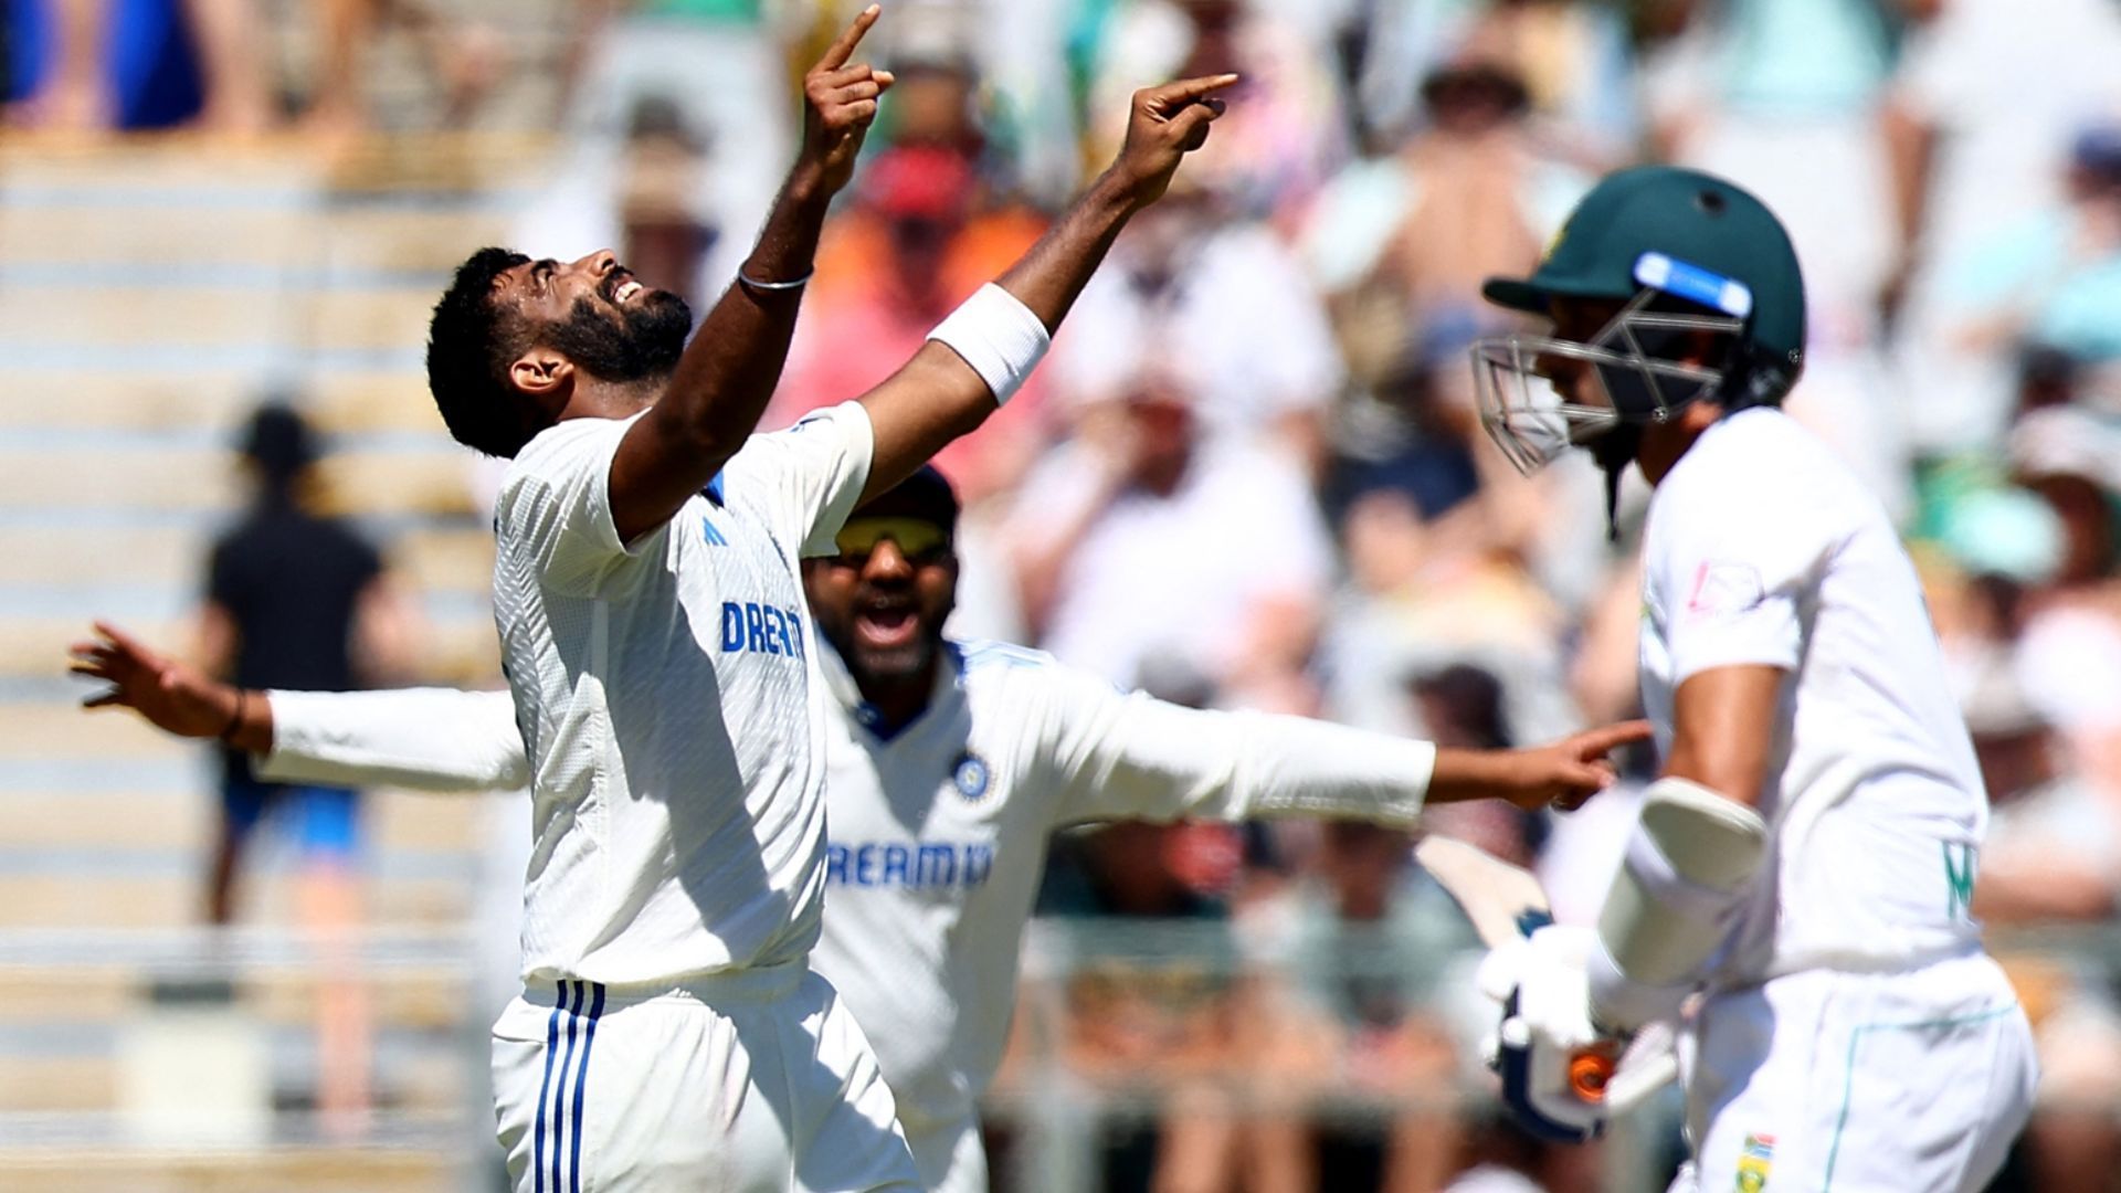
{"label": "blurred pale steps behind the dark-clothed figure at left", "polygon": [[[494,679],[481,480],[422,352],[448,270],[505,236],[545,136],[401,138],[333,163],[291,142],[0,144],[0,1189],[456,1185],[490,1017],[473,989],[511,949],[464,930],[488,805],[363,805],[378,1125],[333,1146],[305,1117],[327,970],[301,945],[295,847],[261,836],[246,928],[214,945],[197,930],[210,751],[81,713],[64,669],[98,616],[187,645],[208,543],[244,499],[235,429],[299,378],[335,452],[316,497],[426,613],[424,679]],[[123,1119],[125,1040],[157,1013],[157,979],[223,964],[267,1040],[274,1144],[144,1146]]]}

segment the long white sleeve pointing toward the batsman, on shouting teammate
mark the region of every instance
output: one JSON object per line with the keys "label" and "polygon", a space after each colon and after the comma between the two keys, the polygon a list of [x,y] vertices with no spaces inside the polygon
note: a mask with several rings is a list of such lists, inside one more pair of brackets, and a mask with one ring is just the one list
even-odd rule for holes
{"label": "long white sleeve pointing toward the batsman, on shouting teammate", "polygon": [[1200,711],[1041,664],[1012,677],[1054,824],[1326,815],[1413,824],[1436,747],[1304,717]]}

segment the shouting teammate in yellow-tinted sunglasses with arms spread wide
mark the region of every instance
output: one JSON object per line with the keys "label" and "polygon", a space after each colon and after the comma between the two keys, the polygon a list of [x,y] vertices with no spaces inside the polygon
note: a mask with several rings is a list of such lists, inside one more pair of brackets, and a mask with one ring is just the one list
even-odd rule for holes
{"label": "shouting teammate in yellow-tinted sunglasses with arms spread wide", "polygon": [[[942,635],[957,501],[923,469],[857,509],[806,565],[834,694],[825,728],[819,972],[876,1044],[921,1178],[986,1187],[976,1108],[1016,1000],[1046,845],[1067,824],[1334,815],[1413,824],[1423,802],[1574,805],[1610,779],[1614,726],[1542,749],[1457,751],[1298,717],[1181,709],[1052,658]],[[193,734],[238,692],[119,630],[83,643],[110,698]],[[528,781],[505,692],[252,694],[235,743],[274,775],[416,788]],[[1529,881],[1529,879],[1527,879]]]}

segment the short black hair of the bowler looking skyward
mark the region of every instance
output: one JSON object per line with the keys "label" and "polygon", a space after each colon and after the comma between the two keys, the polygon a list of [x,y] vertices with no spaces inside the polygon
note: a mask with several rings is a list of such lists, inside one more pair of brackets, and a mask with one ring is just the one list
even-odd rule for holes
{"label": "short black hair of the bowler looking skyward", "polygon": [[426,388],[450,435],[488,456],[515,456],[534,433],[509,365],[530,348],[530,329],[494,301],[494,280],[530,259],[479,248],[435,304],[426,325]]}

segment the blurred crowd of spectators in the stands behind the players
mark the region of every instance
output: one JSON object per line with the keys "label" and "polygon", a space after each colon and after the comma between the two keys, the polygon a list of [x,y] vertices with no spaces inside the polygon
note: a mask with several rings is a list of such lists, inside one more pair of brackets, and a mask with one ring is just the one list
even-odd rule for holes
{"label": "blurred crowd of spectators in the stands behind the players", "polygon": [[[187,8],[210,32],[225,4]],[[515,240],[611,244],[643,280],[711,297],[793,153],[789,64],[853,6],[568,8],[564,146]],[[64,23],[98,4],[42,8]],[[318,4],[361,28],[460,28],[431,8]],[[484,36],[435,34],[464,102]],[[774,427],[882,380],[1029,246],[1135,85],[1243,74],[1044,369],[940,461],[967,501],[959,635],[1190,705],[1453,745],[1629,715],[1646,490],[1623,490],[1608,537],[1589,461],[1510,471],[1474,418],[1466,346],[1517,318],[1478,282],[1525,270],[1597,174],[1697,166],[1790,227],[1811,344],[1788,410],[1915,548],[1994,800],[1977,913],[2113,917],[2121,2],[897,0],[874,40],[899,83],[827,229]],[[201,45],[195,119],[293,115],[252,110]],[[322,79],[312,115],[358,121]],[[25,104],[17,119],[110,119],[64,85]],[[1449,809],[1432,828],[1536,866],[1559,915],[1587,917],[1629,798],[1555,819]],[[1116,1100],[1158,1091],[1105,1131],[1107,1187],[1589,1187],[1572,1165],[1595,1159],[1449,1097],[1478,1027],[1438,957],[1470,934],[1406,836],[1111,826],[1060,843],[1044,906],[1031,983],[1052,989],[1027,998],[1022,1034]],[[1211,945],[1147,964],[1075,932],[1124,917]],[[2015,1178],[2104,1187],[2121,1170],[2115,974],[2004,953],[2047,1070]]]}

